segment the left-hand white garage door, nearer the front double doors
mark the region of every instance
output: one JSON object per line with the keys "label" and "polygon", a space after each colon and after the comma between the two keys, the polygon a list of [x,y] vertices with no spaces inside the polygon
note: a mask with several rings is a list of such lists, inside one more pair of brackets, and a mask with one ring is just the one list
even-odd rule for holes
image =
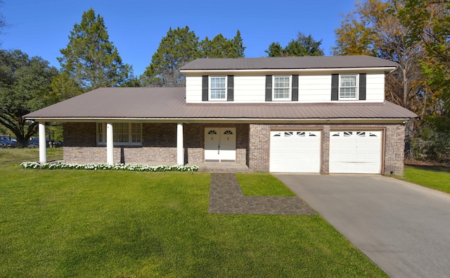
{"label": "left-hand white garage door, nearer the front double doors", "polygon": [[271,172],[320,172],[320,131],[270,132]]}

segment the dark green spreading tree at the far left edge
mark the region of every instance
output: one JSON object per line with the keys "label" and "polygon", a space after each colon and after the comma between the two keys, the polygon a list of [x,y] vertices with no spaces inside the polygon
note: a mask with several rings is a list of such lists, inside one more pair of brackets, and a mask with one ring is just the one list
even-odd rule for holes
{"label": "dark green spreading tree at the far left edge", "polygon": [[48,104],[46,96],[57,73],[40,57],[30,58],[20,50],[0,50],[0,124],[24,147],[35,134],[37,122],[22,117]]}

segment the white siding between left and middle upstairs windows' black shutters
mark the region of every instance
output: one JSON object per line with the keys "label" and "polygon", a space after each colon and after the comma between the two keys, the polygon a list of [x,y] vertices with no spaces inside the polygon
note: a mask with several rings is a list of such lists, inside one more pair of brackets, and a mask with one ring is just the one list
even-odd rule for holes
{"label": "white siding between left and middle upstairs windows' black shutters", "polygon": [[234,101],[260,103],[266,99],[266,76],[235,76]]}

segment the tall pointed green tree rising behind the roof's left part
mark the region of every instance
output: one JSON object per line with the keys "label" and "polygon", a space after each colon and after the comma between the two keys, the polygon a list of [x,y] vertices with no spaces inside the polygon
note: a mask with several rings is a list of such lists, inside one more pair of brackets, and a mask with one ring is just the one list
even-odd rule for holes
{"label": "tall pointed green tree rising behind the roof's left part", "polygon": [[122,62],[106,29],[103,17],[91,8],[70,31],[68,46],[60,49],[61,69],[83,91],[119,86],[132,77],[131,66]]}

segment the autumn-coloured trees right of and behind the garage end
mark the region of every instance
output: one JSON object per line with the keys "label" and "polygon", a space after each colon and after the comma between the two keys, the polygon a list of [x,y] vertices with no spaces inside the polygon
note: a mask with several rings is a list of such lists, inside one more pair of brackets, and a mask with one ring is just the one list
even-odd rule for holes
{"label": "autumn-coloured trees right of and behind the garage end", "polygon": [[335,30],[335,55],[399,63],[386,99],[419,115],[406,127],[406,157],[450,162],[450,1],[356,2]]}

